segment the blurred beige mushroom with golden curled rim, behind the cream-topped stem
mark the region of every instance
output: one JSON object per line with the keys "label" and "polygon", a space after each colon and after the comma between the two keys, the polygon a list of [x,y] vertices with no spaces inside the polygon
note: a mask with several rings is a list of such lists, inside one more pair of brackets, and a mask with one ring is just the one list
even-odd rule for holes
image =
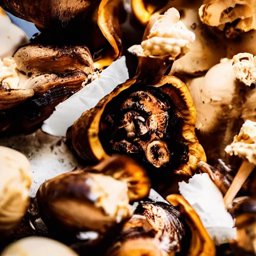
{"label": "blurred beige mushroom with golden curled rim, behind the cream-topped stem", "polygon": [[131,0],[132,11],[143,25],[147,24],[152,15],[175,7],[180,13],[180,20],[195,34],[195,40],[187,53],[176,59],[171,67],[170,74],[177,77],[201,75],[226,55],[226,43],[200,21],[200,5],[201,0]]}

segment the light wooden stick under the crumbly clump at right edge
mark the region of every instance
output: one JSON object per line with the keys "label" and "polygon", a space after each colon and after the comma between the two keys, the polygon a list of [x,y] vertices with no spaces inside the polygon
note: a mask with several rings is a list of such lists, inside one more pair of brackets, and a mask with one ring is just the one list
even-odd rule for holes
{"label": "light wooden stick under the crumbly clump at right edge", "polygon": [[228,203],[230,203],[235,195],[238,193],[240,188],[242,187],[243,183],[246,181],[248,178],[249,174],[252,172],[254,169],[255,164],[243,160],[240,168],[238,169],[236,175],[234,176],[234,179],[228,188],[225,196],[224,196],[224,204],[227,206]]}

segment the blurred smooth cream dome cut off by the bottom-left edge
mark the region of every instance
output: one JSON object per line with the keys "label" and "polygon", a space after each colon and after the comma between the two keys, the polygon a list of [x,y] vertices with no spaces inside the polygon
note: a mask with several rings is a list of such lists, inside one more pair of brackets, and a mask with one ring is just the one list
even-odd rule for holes
{"label": "blurred smooth cream dome cut off by the bottom-left edge", "polygon": [[78,254],[56,240],[30,236],[11,243],[0,256],[78,256]]}

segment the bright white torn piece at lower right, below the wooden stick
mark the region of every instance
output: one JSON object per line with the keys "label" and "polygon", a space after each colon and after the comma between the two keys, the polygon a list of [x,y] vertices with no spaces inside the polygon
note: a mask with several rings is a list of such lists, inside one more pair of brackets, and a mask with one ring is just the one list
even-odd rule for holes
{"label": "bright white torn piece at lower right, below the wooden stick", "polygon": [[179,192],[199,215],[204,227],[216,245],[236,237],[233,219],[225,210],[223,197],[208,173],[195,174],[189,183],[179,182]]}

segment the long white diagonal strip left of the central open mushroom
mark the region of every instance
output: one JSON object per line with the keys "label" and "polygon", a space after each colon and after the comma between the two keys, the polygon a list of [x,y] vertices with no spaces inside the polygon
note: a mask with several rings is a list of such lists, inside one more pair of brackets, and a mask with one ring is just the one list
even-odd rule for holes
{"label": "long white diagonal strip left of the central open mushroom", "polygon": [[102,97],[128,78],[125,57],[122,56],[104,69],[99,78],[58,104],[52,115],[44,121],[42,130],[54,136],[65,136],[67,128],[84,111],[95,106]]}

